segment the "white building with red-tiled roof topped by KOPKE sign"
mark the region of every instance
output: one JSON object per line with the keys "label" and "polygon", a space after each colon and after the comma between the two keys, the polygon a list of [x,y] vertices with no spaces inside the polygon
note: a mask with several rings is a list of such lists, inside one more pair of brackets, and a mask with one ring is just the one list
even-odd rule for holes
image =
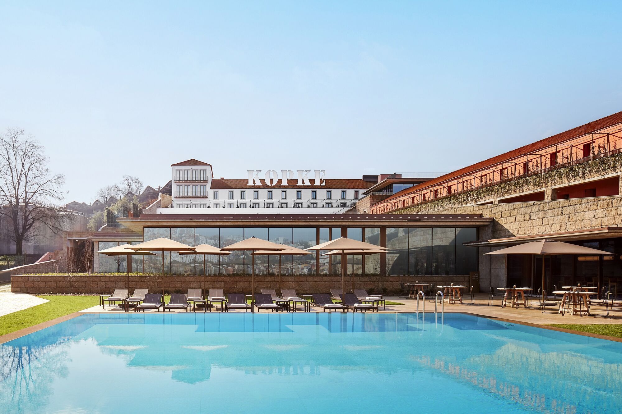
{"label": "white building with red-tiled roof topped by KOPKE sign", "polygon": [[[280,174],[249,170],[247,179],[215,179],[211,164],[195,159],[171,168],[172,204],[158,213],[339,214],[354,206],[377,182],[375,175],[324,179],[320,170],[283,170]],[[282,179],[284,175],[287,180]]]}

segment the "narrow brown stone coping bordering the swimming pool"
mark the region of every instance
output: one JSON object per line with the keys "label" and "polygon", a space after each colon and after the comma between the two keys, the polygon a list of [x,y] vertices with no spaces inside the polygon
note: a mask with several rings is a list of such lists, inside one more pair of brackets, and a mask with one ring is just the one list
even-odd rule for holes
{"label": "narrow brown stone coping bordering the swimming pool", "polygon": [[[389,312],[386,312],[386,313],[389,313]],[[415,312],[396,312],[396,313],[415,313]],[[542,325],[542,324],[531,323],[531,322],[516,321],[516,320],[511,320],[511,319],[506,319],[506,318],[499,318],[498,316],[479,315],[478,313],[471,313],[471,312],[451,312],[451,313],[452,314],[462,313],[463,315],[478,316],[480,318],[486,318],[486,319],[491,319],[491,320],[496,320],[496,321],[501,321],[501,322],[516,323],[519,325],[531,326],[532,328],[549,329],[550,331],[571,333],[575,335],[588,336],[590,338],[606,339],[607,341],[614,341],[614,342],[622,343],[622,338],[616,338],[615,336],[601,335],[601,334],[595,334],[595,333],[584,332],[584,331],[573,331],[572,329],[558,328],[557,326],[549,326],[549,325]],[[0,345],[7,343],[9,341],[12,341],[13,339],[21,338],[22,336],[26,336],[28,334],[40,331],[41,329],[49,328],[50,326],[54,326],[55,324],[65,322],[68,320],[72,320],[73,318],[77,318],[80,315],[100,315],[100,314],[101,312],[78,311],[78,312],[69,313],[68,315],[59,316],[58,318],[54,318],[49,321],[38,323],[36,325],[28,326],[27,328],[22,328],[14,332],[1,335]]]}

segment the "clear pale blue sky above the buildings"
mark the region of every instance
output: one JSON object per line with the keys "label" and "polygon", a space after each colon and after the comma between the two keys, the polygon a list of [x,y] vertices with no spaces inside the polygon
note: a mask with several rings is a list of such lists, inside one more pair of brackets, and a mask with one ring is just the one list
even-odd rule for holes
{"label": "clear pale blue sky above the buildings", "polygon": [[[131,4],[128,4],[131,3]],[[91,201],[169,165],[448,172],[622,110],[620,2],[3,2],[0,129]]]}

